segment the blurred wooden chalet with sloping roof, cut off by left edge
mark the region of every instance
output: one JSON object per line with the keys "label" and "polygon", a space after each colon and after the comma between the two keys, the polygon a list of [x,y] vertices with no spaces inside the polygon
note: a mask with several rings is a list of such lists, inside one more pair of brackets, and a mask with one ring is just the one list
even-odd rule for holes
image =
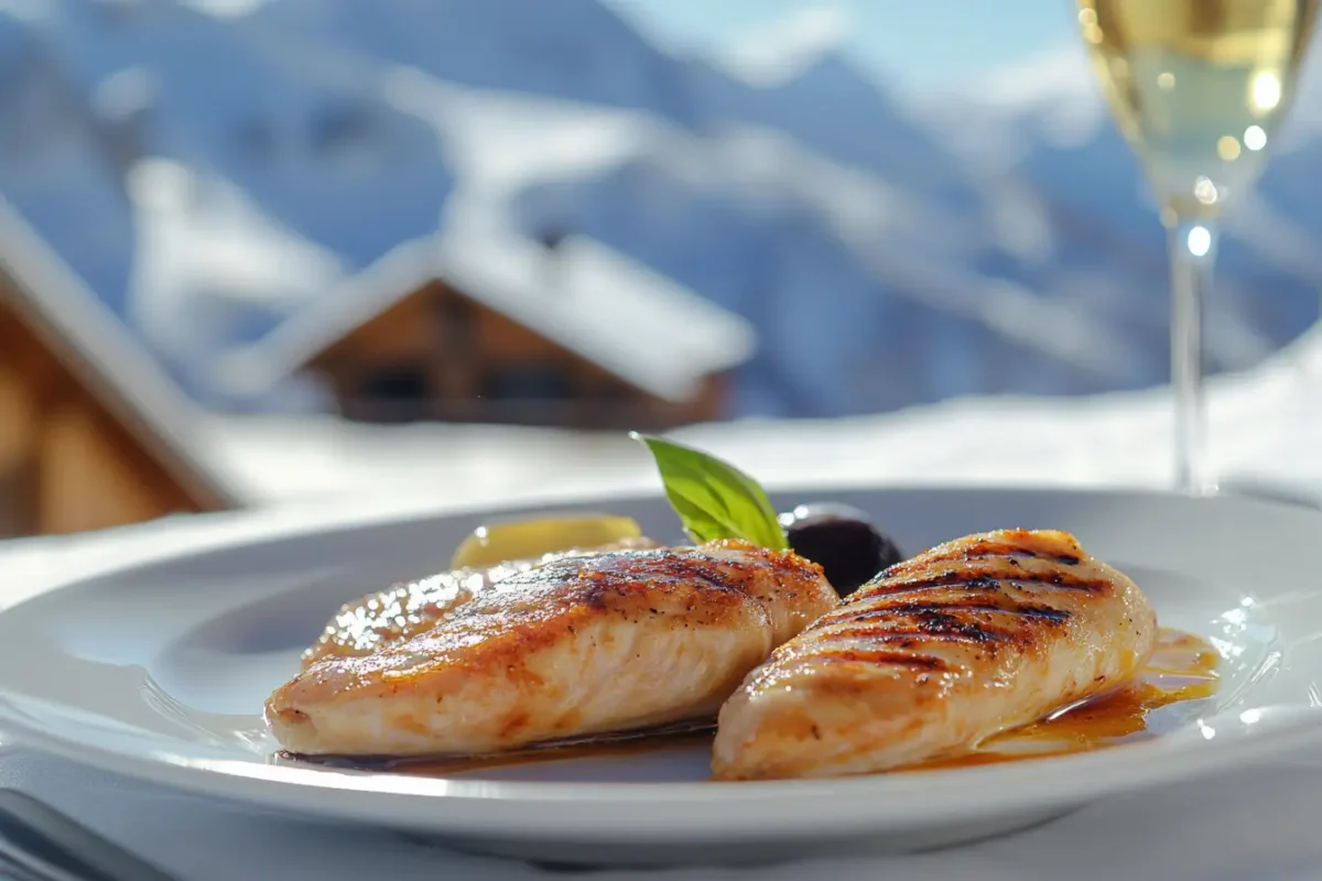
{"label": "blurred wooden chalet with sloping roof, cut off by left edge", "polygon": [[0,538],[124,526],[237,503],[186,449],[168,382],[118,320],[0,213]]}

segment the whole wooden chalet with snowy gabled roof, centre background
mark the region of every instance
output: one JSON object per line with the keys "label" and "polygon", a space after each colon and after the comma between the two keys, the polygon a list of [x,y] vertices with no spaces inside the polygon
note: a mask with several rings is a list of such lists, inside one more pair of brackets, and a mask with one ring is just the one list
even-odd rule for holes
{"label": "whole wooden chalet with snowy gabled roof, centre background", "polygon": [[407,243],[226,369],[260,394],[311,371],[342,416],[662,429],[718,419],[752,353],[734,316],[580,236]]}

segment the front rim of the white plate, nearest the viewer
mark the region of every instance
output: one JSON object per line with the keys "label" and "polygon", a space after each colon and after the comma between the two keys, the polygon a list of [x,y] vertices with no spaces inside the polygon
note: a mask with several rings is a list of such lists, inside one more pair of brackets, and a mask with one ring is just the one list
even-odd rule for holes
{"label": "front rim of the white plate, nearest the viewer", "polygon": [[[7,716],[8,719],[8,716]],[[1144,749],[1153,742],[1121,745],[1107,750],[1046,757],[1031,762],[972,766],[933,771],[899,771],[847,778],[748,781],[739,783],[534,783],[485,781],[459,782],[395,774],[364,775],[374,786],[337,786],[332,778],[352,774],[320,769],[280,767],[237,759],[156,761],[132,753],[77,742],[49,733],[15,740],[30,749],[69,759],[74,763],[149,782],[192,795],[227,798],[266,808],[290,808],[324,818],[356,822],[385,822],[390,826],[480,837],[553,839],[564,833],[609,841],[621,831],[636,832],[637,814],[621,811],[650,808],[666,812],[668,826],[654,829],[658,837],[683,835],[720,840],[731,835],[756,835],[765,829],[765,816],[759,811],[738,812],[734,807],[764,804],[772,799],[800,802],[796,816],[805,806],[847,803],[854,816],[842,819],[828,812],[822,824],[836,831],[854,833],[875,829],[878,823],[895,827],[924,827],[937,820],[965,820],[984,816],[990,810],[1018,811],[1054,806],[1076,806],[1120,793],[1137,793],[1163,783],[1202,779],[1212,774],[1229,774],[1269,763],[1278,756],[1306,742],[1315,742],[1318,721],[1281,725],[1270,732],[1198,750]],[[1116,766],[1116,753],[1133,757],[1142,750],[1144,777],[1108,775]],[[1169,761],[1155,761],[1169,759]],[[1125,762],[1133,765],[1140,759]],[[279,777],[255,770],[278,770]],[[1026,773],[1025,769],[1031,769]],[[1087,785],[1066,791],[1062,777]],[[1085,775],[1085,778],[1084,778]],[[287,779],[297,777],[303,779]],[[303,782],[303,781],[307,782]],[[936,786],[932,786],[932,782]],[[382,782],[389,785],[382,785]],[[446,791],[463,786],[471,791]],[[440,791],[431,791],[431,790]],[[517,791],[510,791],[512,789]],[[524,790],[527,790],[525,793]],[[500,790],[488,791],[483,790]],[[550,790],[550,791],[547,791]],[[340,798],[317,798],[334,791]],[[906,800],[903,810],[894,810],[896,800]],[[958,795],[958,800],[952,800]],[[873,802],[873,810],[857,810]],[[426,806],[426,810],[419,810]],[[558,815],[555,806],[572,806],[572,812]],[[879,810],[878,810],[879,808]],[[510,818],[510,812],[522,812]],[[493,829],[496,820],[524,823],[512,832]],[[584,829],[586,822],[598,824]],[[714,819],[720,823],[711,828]],[[812,831],[805,826],[804,831]]]}

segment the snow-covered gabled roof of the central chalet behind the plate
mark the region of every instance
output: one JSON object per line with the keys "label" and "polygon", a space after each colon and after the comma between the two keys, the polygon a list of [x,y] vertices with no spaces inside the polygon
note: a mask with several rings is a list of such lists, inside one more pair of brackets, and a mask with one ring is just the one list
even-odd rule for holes
{"label": "snow-covered gabled roof of the central chalet behind the plate", "polygon": [[[555,287],[547,285],[555,259]],[[590,238],[557,251],[486,225],[405,243],[221,366],[235,394],[260,394],[432,280],[657,398],[691,399],[703,376],[752,357],[752,325]]]}

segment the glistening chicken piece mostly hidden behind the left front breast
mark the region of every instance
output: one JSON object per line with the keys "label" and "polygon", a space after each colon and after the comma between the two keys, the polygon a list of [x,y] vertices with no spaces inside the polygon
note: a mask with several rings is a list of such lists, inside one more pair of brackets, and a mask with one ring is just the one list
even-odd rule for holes
{"label": "glistening chicken piece mostly hidden behind the left front breast", "polygon": [[512,560],[485,569],[455,569],[391,585],[341,606],[317,641],[303,652],[303,667],[323,658],[368,655],[383,646],[411,639],[449,618],[500,581],[553,560],[654,547],[656,543],[649,539],[623,539],[599,548],[557,551],[535,560]]}

